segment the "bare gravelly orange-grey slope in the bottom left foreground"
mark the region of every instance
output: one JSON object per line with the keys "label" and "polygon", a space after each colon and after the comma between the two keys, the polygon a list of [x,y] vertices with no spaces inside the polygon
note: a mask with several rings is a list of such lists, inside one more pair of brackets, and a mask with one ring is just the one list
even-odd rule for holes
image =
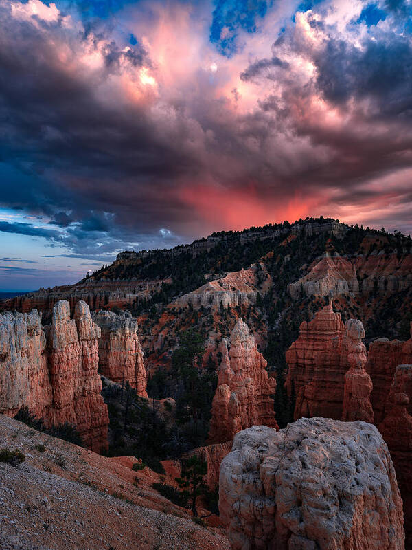
{"label": "bare gravelly orange-grey slope in the bottom left foreground", "polygon": [[[42,446],[43,445],[43,446]],[[131,470],[0,415],[0,448],[25,461],[0,463],[1,550],[229,550],[221,528],[157,494],[161,476]]]}

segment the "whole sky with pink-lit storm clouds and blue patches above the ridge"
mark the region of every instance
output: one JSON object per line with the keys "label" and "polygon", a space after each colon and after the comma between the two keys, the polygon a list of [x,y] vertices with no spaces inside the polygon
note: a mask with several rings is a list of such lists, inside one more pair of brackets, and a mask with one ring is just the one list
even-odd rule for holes
{"label": "whole sky with pink-lit storm clouds and blue patches above the ridge", "polygon": [[0,0],[0,289],[335,217],[412,231],[409,0]]}

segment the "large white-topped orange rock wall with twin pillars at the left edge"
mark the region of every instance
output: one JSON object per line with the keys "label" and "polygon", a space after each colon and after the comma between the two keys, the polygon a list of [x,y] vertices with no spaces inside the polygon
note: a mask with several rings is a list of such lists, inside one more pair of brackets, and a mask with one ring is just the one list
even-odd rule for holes
{"label": "large white-topped orange rock wall with twin pillars at the left edge", "polygon": [[93,450],[107,446],[108,413],[100,395],[98,337],[89,306],[68,302],[53,309],[42,327],[36,310],[0,316],[0,412],[27,406],[49,426],[69,422]]}

